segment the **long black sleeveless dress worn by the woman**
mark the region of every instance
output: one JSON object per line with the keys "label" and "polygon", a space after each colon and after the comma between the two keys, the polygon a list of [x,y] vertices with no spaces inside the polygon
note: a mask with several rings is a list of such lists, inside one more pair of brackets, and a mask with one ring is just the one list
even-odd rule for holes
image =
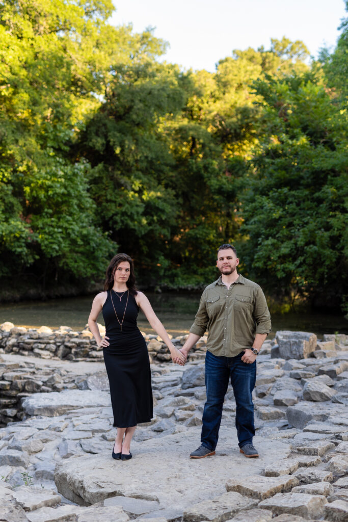
{"label": "long black sleeveless dress worn by the woman", "polygon": [[137,327],[139,307],[134,295],[129,293],[122,331],[115,314],[116,310],[122,323],[127,294],[128,291],[120,301],[114,290],[107,290],[103,306],[105,335],[110,342],[108,347],[103,348],[103,354],[110,383],[114,426],[118,428],[149,422],[153,416],[149,354],[145,339]]}

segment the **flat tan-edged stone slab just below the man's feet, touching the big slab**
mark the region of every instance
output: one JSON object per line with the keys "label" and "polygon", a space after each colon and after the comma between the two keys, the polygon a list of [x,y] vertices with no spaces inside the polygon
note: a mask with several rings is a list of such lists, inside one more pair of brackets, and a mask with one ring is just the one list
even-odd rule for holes
{"label": "flat tan-edged stone slab just below the man's feet, touching the big slab", "polygon": [[227,491],[236,491],[253,499],[264,500],[275,495],[275,493],[291,491],[298,483],[298,479],[291,475],[281,475],[279,477],[249,475],[249,477],[244,479],[229,479],[225,487]]}

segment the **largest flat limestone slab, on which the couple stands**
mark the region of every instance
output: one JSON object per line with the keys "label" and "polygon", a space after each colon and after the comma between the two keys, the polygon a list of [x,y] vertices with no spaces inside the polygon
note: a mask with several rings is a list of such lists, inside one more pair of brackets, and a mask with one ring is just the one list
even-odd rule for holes
{"label": "largest flat limestone slab, on which the couple stands", "polygon": [[261,473],[266,466],[290,453],[287,441],[256,436],[254,443],[262,451],[251,466],[250,459],[239,453],[235,429],[221,426],[217,454],[190,459],[190,452],[199,446],[200,431],[199,426],[194,426],[185,434],[166,435],[160,444],[158,438],[134,441],[133,458],[127,462],[111,458],[112,445],[110,450],[98,455],[64,459],[57,463],[55,472],[58,492],[80,505],[121,495],[158,501],[160,509],[174,505],[183,513],[188,506],[223,494],[225,482],[233,476],[241,478]]}

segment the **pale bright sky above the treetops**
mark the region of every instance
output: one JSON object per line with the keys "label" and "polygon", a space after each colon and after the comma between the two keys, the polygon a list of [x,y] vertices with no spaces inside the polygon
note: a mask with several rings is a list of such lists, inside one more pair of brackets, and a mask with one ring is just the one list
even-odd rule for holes
{"label": "pale bright sky above the treetops", "polygon": [[112,25],[132,23],[135,32],[155,28],[170,49],[166,62],[183,69],[215,71],[233,49],[270,48],[270,39],[302,40],[312,56],[334,49],[344,0],[113,0]]}

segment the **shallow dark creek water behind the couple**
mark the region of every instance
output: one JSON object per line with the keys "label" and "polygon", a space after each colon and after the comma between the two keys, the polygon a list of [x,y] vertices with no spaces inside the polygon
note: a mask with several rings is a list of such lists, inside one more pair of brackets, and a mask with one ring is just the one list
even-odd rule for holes
{"label": "shallow dark creek water behind the couple", "polygon": [[[146,293],[157,316],[173,336],[188,333],[194,321],[199,304],[199,294]],[[16,326],[37,328],[42,325],[58,328],[61,325],[82,330],[87,324],[93,296],[52,299],[50,301],[23,301],[0,305],[0,324],[10,321]],[[277,330],[311,331],[321,337],[323,334],[348,334],[348,321],[343,315],[322,313],[271,314],[272,332]],[[98,322],[103,324],[100,314]],[[138,326],[147,333],[153,333],[145,315],[138,316]]]}

